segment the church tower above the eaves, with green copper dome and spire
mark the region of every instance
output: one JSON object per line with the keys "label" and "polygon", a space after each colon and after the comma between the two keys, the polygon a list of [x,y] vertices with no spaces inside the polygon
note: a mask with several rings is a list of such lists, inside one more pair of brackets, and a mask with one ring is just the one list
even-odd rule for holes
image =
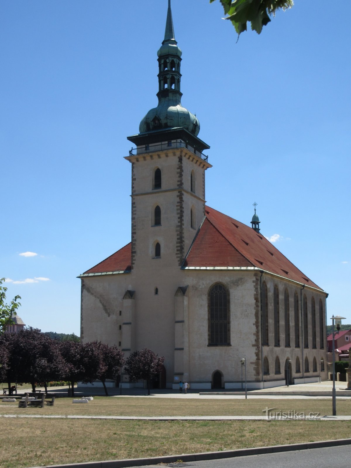
{"label": "church tower above the eaves, with green copper dome and spire", "polygon": [[[165,36],[158,55],[158,105],[141,120],[132,163],[132,269],[180,267],[205,215],[200,124],[181,104],[181,56],[170,0]],[[155,261],[157,263],[155,264]]]}

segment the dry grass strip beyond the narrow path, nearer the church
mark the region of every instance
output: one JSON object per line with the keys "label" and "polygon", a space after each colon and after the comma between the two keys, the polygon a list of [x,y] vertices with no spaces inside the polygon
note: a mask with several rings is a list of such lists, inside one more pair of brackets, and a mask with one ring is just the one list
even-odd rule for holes
{"label": "dry grass strip beyond the narrow path, nearer the church", "polygon": [[[263,409],[276,406],[281,411],[332,414],[330,400],[272,399],[179,399],[94,397],[88,404],[73,404],[72,398],[57,398],[44,408],[18,408],[17,403],[1,403],[0,414],[90,415],[90,416],[262,416]],[[350,401],[337,400],[337,414],[350,415]]]}

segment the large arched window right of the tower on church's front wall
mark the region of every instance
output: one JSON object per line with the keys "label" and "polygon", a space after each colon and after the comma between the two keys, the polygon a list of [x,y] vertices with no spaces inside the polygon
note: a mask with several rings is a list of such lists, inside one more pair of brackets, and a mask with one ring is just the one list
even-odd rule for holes
{"label": "large arched window right of the tower on church's front wall", "polygon": [[229,292],[224,285],[213,285],[208,294],[208,344],[230,344]]}

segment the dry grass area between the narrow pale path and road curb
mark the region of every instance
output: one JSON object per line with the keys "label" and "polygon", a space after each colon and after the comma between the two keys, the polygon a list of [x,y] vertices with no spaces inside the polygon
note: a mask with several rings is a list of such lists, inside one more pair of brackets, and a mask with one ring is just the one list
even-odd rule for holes
{"label": "dry grass area between the narrow pale path and road curb", "polygon": [[351,422],[1,419],[2,468],[339,439]]}

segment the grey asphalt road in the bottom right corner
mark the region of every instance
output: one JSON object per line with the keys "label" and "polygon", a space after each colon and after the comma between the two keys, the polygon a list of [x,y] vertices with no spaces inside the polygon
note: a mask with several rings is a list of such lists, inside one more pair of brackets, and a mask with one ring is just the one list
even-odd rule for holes
{"label": "grey asphalt road in the bottom right corner", "polygon": [[[181,456],[179,458],[181,459]],[[166,466],[175,468],[350,468],[351,446],[313,448],[293,452],[224,458],[222,460],[170,463]],[[160,465],[146,465],[139,468],[160,468]]]}

